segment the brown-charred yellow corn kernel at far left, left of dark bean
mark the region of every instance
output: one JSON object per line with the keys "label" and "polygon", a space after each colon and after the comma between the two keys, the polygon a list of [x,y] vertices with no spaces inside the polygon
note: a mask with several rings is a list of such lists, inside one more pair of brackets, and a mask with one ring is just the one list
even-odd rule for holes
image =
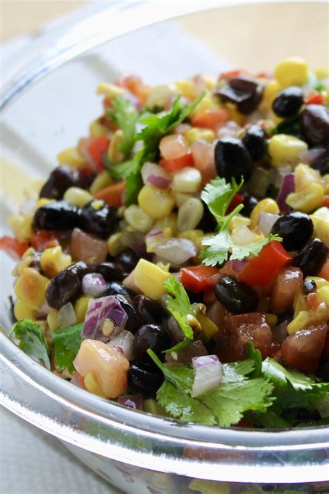
{"label": "brown-charred yellow corn kernel at far left, left of dark bean", "polygon": [[43,303],[49,279],[42,276],[32,267],[24,267],[22,274],[15,283],[17,298],[25,302],[35,310]]}

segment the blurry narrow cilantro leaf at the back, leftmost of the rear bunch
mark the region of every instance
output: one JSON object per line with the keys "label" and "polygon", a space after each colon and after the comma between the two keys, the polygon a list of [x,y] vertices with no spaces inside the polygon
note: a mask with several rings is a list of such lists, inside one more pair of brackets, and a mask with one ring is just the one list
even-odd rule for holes
{"label": "blurry narrow cilantro leaf at the back, leftmost of the rear bunch", "polygon": [[122,130],[122,141],[119,150],[124,156],[129,156],[135,144],[136,124],[139,117],[135,106],[128,99],[117,96],[112,101],[112,108],[107,111],[108,116]]}

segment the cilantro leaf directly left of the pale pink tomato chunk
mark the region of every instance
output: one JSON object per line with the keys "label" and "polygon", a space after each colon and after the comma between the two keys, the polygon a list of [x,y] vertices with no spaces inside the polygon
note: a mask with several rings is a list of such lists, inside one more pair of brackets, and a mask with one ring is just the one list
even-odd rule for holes
{"label": "cilantro leaf directly left of the pale pink tomato chunk", "polygon": [[57,370],[74,372],[73,361],[81,346],[83,323],[53,331],[53,350]]}

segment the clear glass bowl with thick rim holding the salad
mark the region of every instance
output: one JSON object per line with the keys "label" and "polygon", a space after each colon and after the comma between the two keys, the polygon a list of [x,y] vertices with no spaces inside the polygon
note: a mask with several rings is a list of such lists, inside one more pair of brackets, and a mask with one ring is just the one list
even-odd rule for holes
{"label": "clear glass bowl with thick rim holding the salad", "polygon": [[[58,151],[87,135],[101,113],[99,81],[121,73],[154,84],[236,67],[267,71],[293,55],[314,67],[328,61],[326,2],[205,2],[202,9],[111,3],[34,51],[2,92],[3,231],[26,183],[46,178]],[[2,301],[12,294],[12,266],[1,257]],[[8,328],[4,303],[0,321]],[[221,429],[132,411],[51,374],[4,333],[0,345],[1,403],[128,493],[329,490],[326,427]]]}

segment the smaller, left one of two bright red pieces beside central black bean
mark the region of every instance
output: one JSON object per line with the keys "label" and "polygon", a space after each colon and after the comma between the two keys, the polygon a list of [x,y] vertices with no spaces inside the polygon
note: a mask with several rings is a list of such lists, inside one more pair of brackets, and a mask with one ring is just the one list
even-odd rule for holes
{"label": "smaller, left one of two bright red pieces beside central black bean", "polygon": [[181,282],[183,285],[196,293],[211,290],[220,277],[217,267],[204,266],[203,264],[182,267],[180,273],[182,275]]}

